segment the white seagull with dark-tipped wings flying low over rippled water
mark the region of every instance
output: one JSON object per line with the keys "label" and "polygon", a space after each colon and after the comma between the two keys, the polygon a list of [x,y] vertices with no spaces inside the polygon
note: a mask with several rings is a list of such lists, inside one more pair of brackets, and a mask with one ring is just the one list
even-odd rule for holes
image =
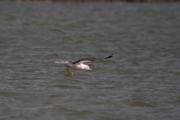
{"label": "white seagull with dark-tipped wings flying low over rippled water", "polygon": [[[100,60],[106,60],[106,59],[110,59],[113,57],[113,54],[105,57],[105,58],[101,58]],[[55,61],[55,63],[57,64],[65,64],[67,66],[67,70],[73,70],[73,69],[81,69],[81,70],[86,70],[86,71],[90,71],[92,70],[90,68],[90,66],[86,63],[91,63],[98,60],[97,58],[94,57],[88,57],[88,58],[80,58],[76,61]]]}

